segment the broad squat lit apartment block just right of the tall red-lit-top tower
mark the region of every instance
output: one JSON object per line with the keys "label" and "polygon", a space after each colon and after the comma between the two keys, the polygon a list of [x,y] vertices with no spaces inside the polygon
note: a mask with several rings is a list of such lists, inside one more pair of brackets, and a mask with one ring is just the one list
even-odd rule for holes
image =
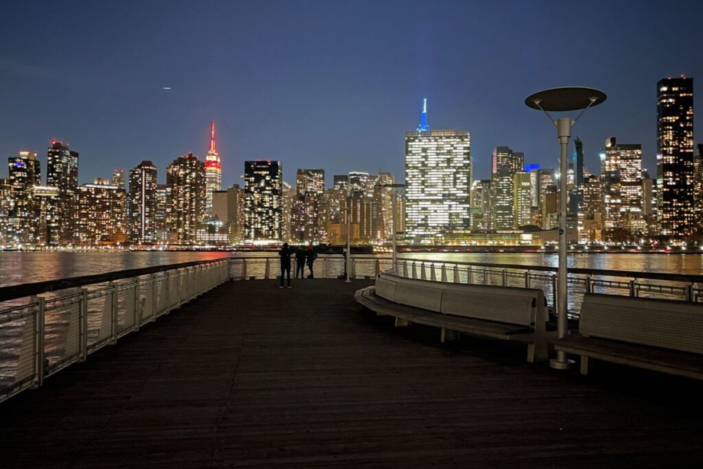
{"label": "broad squat lit apartment block just right of the tall red-lit-top tower", "polygon": [[77,242],[113,244],[127,240],[124,189],[110,180],[96,178],[78,191]]}

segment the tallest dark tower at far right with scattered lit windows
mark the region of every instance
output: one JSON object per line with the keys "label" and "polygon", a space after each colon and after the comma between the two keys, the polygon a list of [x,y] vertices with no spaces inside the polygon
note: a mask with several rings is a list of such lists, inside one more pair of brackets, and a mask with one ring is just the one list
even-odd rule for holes
{"label": "tallest dark tower at far right with scattered lit windows", "polygon": [[693,233],[693,79],[657,83],[657,217],[673,240]]}

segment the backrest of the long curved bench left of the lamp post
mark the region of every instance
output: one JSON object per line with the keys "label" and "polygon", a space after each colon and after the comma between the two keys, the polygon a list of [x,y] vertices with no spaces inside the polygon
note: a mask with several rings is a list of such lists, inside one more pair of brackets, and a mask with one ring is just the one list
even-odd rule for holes
{"label": "backrest of the long curved bench left of the lamp post", "polygon": [[[530,326],[544,321],[544,295],[535,288],[458,285],[380,274],[376,295],[443,314]],[[538,307],[540,305],[541,307]]]}

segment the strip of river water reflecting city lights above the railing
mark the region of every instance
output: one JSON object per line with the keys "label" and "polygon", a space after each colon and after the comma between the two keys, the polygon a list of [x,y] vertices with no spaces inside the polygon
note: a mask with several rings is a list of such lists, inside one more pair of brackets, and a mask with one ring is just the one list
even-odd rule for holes
{"label": "strip of river water reflecting city lights above the railing", "polygon": [[[218,257],[276,256],[275,252],[0,252],[0,286],[31,283],[58,278],[138,269],[160,264],[176,264]],[[388,255],[385,255],[388,256]],[[321,256],[323,258],[325,256]],[[331,256],[340,259],[340,256]],[[399,258],[437,261],[490,262],[527,266],[556,266],[556,254],[512,253],[412,253]],[[701,254],[575,254],[569,255],[570,267],[587,269],[665,272],[703,275]]]}

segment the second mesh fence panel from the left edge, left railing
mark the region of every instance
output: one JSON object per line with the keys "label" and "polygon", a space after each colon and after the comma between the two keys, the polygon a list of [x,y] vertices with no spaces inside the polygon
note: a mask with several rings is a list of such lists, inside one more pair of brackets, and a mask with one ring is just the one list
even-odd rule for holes
{"label": "second mesh fence panel from the left edge, left railing", "polygon": [[81,308],[81,293],[46,300],[44,313],[46,375],[56,373],[80,358]]}

